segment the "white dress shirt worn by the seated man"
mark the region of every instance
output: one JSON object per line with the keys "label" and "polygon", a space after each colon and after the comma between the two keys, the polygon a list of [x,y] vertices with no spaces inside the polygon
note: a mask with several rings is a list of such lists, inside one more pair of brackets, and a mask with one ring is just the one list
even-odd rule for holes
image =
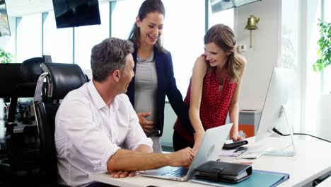
{"label": "white dress shirt worn by the seated man", "polygon": [[54,136],[59,183],[67,186],[87,186],[92,182],[88,174],[106,172],[108,160],[121,147],[152,147],[127,95],[116,96],[108,108],[93,81],[66,95]]}

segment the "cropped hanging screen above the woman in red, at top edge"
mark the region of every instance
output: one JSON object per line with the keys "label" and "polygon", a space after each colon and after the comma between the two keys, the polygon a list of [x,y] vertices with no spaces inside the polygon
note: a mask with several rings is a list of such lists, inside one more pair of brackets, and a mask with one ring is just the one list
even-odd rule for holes
{"label": "cropped hanging screen above the woman in red, at top edge", "polygon": [[213,13],[216,13],[219,11],[227,10],[229,8],[242,6],[244,4],[250,4],[255,1],[261,0],[210,0],[211,11],[213,11]]}

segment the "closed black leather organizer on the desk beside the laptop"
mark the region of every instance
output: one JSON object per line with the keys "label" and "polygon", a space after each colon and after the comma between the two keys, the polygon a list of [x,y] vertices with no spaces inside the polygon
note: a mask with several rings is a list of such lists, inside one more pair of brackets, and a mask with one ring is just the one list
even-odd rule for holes
{"label": "closed black leather organizer on the desk beside the laptop", "polygon": [[252,166],[228,162],[209,161],[196,169],[197,178],[226,183],[238,183],[248,179],[252,174]]}

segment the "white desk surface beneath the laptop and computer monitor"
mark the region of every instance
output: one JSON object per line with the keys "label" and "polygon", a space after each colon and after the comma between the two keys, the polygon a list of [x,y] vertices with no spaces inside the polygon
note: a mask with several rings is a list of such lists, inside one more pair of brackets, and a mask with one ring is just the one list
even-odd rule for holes
{"label": "white desk surface beneath the laptop and computer monitor", "polygon": [[[279,139],[267,137],[264,142],[255,142],[255,137],[248,138],[250,147],[264,147],[277,145]],[[262,156],[253,160],[252,168],[266,171],[276,171],[290,174],[290,179],[281,183],[284,186],[304,186],[331,171],[331,144],[307,136],[295,136],[296,155],[294,157]],[[242,159],[221,157],[222,161],[239,162]],[[144,176],[134,176],[124,179],[114,179],[108,174],[91,174],[95,181],[109,183],[116,186],[205,186],[202,184],[166,179],[152,179]]]}

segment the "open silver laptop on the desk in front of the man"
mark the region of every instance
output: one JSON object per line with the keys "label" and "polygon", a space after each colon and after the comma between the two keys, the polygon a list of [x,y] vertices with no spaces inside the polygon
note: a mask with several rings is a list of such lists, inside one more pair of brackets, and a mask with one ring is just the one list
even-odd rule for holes
{"label": "open silver laptop on the desk in front of the man", "polygon": [[194,175],[195,169],[210,160],[216,160],[219,152],[228,137],[232,123],[222,125],[217,128],[208,129],[204,132],[202,143],[195,155],[190,169],[185,167],[165,166],[160,169],[143,171],[141,176],[150,176],[161,179],[170,179],[175,181],[187,181]]}

